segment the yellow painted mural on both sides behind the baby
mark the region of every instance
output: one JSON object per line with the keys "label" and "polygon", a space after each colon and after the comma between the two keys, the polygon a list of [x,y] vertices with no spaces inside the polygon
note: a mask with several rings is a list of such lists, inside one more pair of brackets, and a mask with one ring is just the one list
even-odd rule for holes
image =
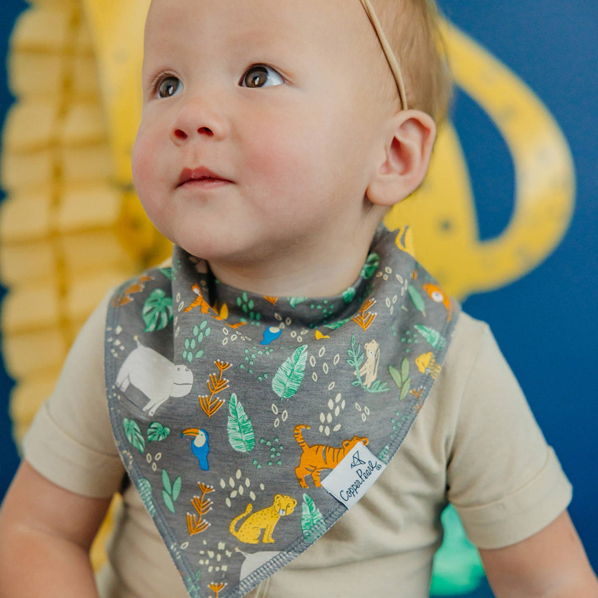
{"label": "yellow painted mural on both sides behind the baby", "polygon": [[[9,83],[17,102],[2,139],[0,278],[8,287],[2,350],[16,380],[17,443],[100,297],[170,254],[130,170],[148,5],[35,0],[14,27]],[[541,100],[472,39],[443,29],[457,85],[495,121],[512,153],[514,215],[499,237],[480,242],[467,165],[448,124],[425,184],[385,223],[463,299],[523,276],[553,251],[568,228],[575,184],[566,141]],[[117,504],[94,544],[96,568]]]}

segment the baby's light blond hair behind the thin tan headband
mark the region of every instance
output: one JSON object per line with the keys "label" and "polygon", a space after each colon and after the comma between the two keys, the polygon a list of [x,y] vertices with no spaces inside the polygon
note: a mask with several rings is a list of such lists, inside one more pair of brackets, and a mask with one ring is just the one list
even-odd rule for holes
{"label": "baby's light blond hair behind the thin tan headband", "polygon": [[[442,124],[453,85],[437,5],[434,0],[371,0],[371,4],[401,67],[409,108],[427,112]],[[389,69],[383,54],[380,66]],[[385,91],[398,99],[395,81],[383,80]]]}

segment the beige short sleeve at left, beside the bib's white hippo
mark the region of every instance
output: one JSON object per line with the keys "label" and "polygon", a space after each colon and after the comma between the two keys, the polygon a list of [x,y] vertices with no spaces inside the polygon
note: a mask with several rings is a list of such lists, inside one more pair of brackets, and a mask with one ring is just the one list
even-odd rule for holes
{"label": "beige short sleeve at left, beside the bib's white hippo", "polygon": [[39,474],[84,496],[107,498],[120,489],[125,470],[108,413],[104,334],[109,292],[81,328],[56,388],[39,408],[23,455]]}

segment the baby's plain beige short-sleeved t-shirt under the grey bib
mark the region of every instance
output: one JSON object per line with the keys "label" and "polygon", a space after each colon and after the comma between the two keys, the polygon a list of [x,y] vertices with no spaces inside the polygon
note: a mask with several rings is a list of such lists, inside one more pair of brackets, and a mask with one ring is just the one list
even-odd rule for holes
{"label": "baby's plain beige short-sleeved t-shirt under the grey bib", "polygon": [[[103,372],[108,295],[90,316],[23,450],[65,489],[106,497],[126,475],[112,437]],[[251,598],[428,596],[447,501],[479,548],[521,541],[569,504],[547,446],[489,328],[462,314],[422,410],[379,480],[312,547]],[[98,576],[102,598],[188,598],[134,486]],[[234,541],[227,545],[234,548]]]}

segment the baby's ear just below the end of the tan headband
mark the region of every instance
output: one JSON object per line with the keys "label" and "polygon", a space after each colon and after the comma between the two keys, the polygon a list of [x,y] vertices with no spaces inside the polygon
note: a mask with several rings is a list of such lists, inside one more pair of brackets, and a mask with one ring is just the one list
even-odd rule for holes
{"label": "baby's ear just below the end of the tan headband", "polygon": [[426,112],[404,110],[385,123],[366,194],[371,203],[390,207],[422,184],[428,172],[436,125]]}

